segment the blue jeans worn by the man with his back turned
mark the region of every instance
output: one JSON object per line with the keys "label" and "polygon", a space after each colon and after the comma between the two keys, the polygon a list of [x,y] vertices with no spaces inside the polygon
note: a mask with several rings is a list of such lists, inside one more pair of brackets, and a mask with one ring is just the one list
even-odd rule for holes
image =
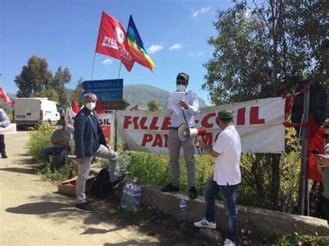
{"label": "blue jeans worn by the man with his back turned", "polygon": [[228,233],[226,238],[232,242],[235,242],[237,231],[237,186],[239,184],[219,186],[214,179],[210,178],[203,191],[205,197],[205,219],[209,222],[214,221],[214,199],[218,193],[221,193],[225,214],[228,216]]}

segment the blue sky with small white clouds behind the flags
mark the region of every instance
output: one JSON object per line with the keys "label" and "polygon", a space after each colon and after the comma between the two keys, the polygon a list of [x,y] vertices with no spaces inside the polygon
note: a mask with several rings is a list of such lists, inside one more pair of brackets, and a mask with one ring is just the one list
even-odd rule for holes
{"label": "blue sky with small white clouds behind the flags", "polygon": [[[46,58],[49,69],[68,67],[74,89],[79,78],[90,80],[101,12],[126,28],[133,15],[144,46],[155,63],[154,73],[135,63],[130,73],[121,67],[124,85],[146,84],[176,90],[176,75],[189,74],[192,89],[208,105],[203,64],[212,55],[207,39],[216,35],[218,10],[233,6],[230,0],[0,0],[0,86],[18,91],[15,76],[28,58]],[[118,78],[120,61],[97,53],[93,80]]]}

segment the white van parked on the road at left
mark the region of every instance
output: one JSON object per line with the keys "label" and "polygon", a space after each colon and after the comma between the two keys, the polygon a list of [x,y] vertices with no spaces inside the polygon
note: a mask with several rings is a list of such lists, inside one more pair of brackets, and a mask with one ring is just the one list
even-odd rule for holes
{"label": "white van parked on the road at left", "polygon": [[12,107],[12,120],[17,126],[56,125],[60,119],[58,104],[48,98],[16,98]]}

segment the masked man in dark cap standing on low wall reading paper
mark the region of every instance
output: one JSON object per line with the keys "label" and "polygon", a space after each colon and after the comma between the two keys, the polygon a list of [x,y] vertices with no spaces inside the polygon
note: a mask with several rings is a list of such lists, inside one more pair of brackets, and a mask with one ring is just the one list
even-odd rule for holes
{"label": "masked man in dark cap standing on low wall reading paper", "polygon": [[169,106],[169,98],[165,107],[166,111],[171,116],[171,129],[169,130],[168,150],[171,166],[171,184],[161,188],[162,192],[179,191],[179,154],[180,148],[183,146],[185,164],[187,168],[187,178],[189,182],[189,198],[196,199],[195,187],[195,161],[194,161],[194,138],[189,137],[187,141],[181,142],[178,139],[178,126],[186,124],[188,128],[194,128],[194,115],[200,113],[199,99],[194,91],[187,91],[189,84],[189,76],[186,73],[178,73],[176,77],[177,93],[184,93],[185,100],[180,100],[178,106],[180,110],[173,110]]}

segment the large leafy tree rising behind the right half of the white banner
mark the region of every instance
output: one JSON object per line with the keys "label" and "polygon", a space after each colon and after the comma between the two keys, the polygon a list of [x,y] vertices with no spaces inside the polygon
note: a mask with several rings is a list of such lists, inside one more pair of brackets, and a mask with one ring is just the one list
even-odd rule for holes
{"label": "large leafy tree rising behind the right half of the white banner", "polygon": [[[264,0],[260,5],[253,1],[251,8],[240,1],[219,11],[214,22],[218,34],[208,39],[214,51],[204,64],[203,89],[212,103],[220,105],[294,93],[305,78],[325,85],[325,25],[323,0]],[[252,165],[250,184],[277,209],[280,155],[245,156]]]}

